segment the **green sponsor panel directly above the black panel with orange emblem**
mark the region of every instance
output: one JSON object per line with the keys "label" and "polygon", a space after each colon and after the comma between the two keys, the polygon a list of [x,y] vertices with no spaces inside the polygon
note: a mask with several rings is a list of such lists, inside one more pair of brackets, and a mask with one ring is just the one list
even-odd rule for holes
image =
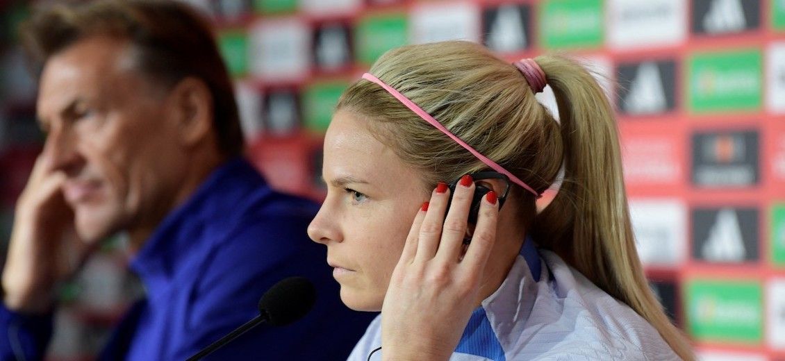
{"label": "green sponsor panel directly above the black panel with orange emblem", "polygon": [[693,54],[688,96],[692,111],[757,110],[763,84],[761,51]]}

